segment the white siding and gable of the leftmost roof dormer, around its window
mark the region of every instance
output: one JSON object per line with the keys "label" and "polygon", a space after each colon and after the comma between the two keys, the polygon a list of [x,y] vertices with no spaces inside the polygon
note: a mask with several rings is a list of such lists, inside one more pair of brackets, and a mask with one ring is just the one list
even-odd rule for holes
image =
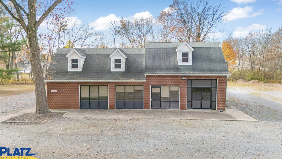
{"label": "white siding and gable of the leftmost roof dormer, around its window", "polygon": [[[85,60],[85,56],[81,56],[75,49],[72,49],[68,55],[66,55],[68,58],[68,71],[81,71],[83,68],[83,63]],[[77,59],[78,62],[78,68],[72,68],[71,59]]]}

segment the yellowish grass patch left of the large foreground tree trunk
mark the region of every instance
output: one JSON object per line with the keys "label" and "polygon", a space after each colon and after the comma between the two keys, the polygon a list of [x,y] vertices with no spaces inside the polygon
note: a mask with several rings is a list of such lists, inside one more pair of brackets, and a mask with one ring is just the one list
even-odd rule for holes
{"label": "yellowish grass patch left of the large foreground tree trunk", "polygon": [[11,96],[34,91],[34,84],[5,84],[0,85],[0,96]]}

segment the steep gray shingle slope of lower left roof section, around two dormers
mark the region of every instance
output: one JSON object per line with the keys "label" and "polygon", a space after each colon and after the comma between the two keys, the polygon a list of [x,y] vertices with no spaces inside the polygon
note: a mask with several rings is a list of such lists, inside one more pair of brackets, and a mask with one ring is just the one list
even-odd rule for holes
{"label": "steep gray shingle slope of lower left roof section, around two dormers", "polygon": [[145,54],[128,54],[124,72],[111,71],[109,54],[87,54],[81,72],[68,71],[67,54],[54,54],[52,80],[145,80]]}

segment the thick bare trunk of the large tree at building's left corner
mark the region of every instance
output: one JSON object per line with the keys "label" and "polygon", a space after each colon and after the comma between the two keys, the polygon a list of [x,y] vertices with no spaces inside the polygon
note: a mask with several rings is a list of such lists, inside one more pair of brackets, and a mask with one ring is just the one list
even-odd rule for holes
{"label": "thick bare trunk of the large tree at building's left corner", "polygon": [[37,29],[36,27],[28,28],[28,45],[31,53],[31,67],[34,78],[35,85],[35,99],[36,99],[36,111],[35,113],[48,113],[50,112],[47,95],[43,77],[43,71],[41,66],[41,57],[39,52],[38,38],[37,38]]}

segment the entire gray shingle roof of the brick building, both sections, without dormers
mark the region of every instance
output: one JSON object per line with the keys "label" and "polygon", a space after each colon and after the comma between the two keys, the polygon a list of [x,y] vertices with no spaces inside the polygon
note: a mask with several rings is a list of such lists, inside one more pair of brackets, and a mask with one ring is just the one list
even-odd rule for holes
{"label": "entire gray shingle roof of the brick building, both sections, without dormers", "polygon": [[81,72],[68,71],[66,55],[73,48],[58,48],[47,73],[52,80],[145,80],[145,73],[229,74],[220,42],[189,42],[194,49],[193,65],[177,65],[175,49],[181,44],[156,42],[147,43],[146,49],[119,48],[127,56],[124,72],[111,71],[109,55],[116,48],[76,48],[87,57]]}

